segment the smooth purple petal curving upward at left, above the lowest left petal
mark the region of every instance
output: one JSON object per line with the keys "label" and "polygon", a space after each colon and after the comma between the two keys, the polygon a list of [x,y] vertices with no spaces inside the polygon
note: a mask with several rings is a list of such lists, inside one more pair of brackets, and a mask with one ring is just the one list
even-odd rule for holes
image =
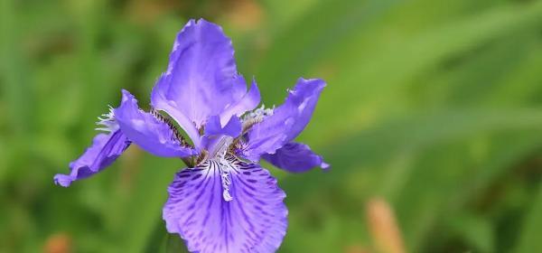
{"label": "smooth purple petal curving upward at left, above the lowest left petal", "polygon": [[172,126],[146,113],[137,106],[137,100],[128,91],[122,91],[122,103],[115,109],[120,130],[136,145],[158,156],[186,157],[197,152],[181,145]]}

